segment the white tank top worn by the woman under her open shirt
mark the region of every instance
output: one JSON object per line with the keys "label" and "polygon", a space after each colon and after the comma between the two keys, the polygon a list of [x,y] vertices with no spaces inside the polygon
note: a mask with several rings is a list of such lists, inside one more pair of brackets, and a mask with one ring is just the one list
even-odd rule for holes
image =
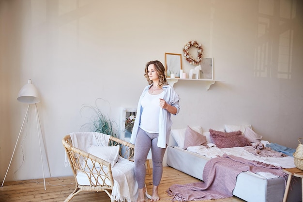
{"label": "white tank top worn by the woman under her open shirt", "polygon": [[[164,93],[164,91],[162,92]],[[139,127],[149,133],[159,133],[160,94],[147,92],[141,100],[143,108]]]}

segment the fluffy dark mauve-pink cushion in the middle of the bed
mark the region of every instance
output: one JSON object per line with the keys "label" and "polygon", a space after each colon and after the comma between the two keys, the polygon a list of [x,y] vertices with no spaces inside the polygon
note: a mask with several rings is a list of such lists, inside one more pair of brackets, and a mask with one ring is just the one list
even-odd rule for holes
{"label": "fluffy dark mauve-pink cushion in the middle of the bed", "polygon": [[217,145],[218,148],[251,146],[251,143],[242,136],[240,130],[227,133],[210,129],[210,134],[212,142]]}

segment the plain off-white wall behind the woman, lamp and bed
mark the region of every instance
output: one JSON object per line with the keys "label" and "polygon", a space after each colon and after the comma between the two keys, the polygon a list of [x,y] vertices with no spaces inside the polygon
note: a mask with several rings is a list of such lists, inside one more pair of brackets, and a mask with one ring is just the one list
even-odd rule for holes
{"label": "plain off-white wall behind the woman, lamp and bed", "polygon": [[[190,40],[214,59],[216,82],[175,84],[173,128],[252,124],[264,139],[296,148],[303,131],[303,16],[296,0],[0,0],[0,181],[27,109],[16,100],[29,78],[51,176],[63,166],[61,139],[99,107],[119,123],[147,85],[144,66],[182,54]],[[194,53],[193,53],[194,54]],[[182,59],[187,72],[193,65]],[[42,178],[34,110],[6,181]],[[43,152],[44,153],[44,152]],[[23,157],[24,156],[24,157]],[[45,177],[49,171],[45,165]]]}

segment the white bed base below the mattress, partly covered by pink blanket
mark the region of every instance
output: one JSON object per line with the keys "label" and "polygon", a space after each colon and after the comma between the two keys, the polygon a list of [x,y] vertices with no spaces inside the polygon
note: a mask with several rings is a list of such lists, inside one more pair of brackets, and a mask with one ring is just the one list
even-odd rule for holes
{"label": "white bed base below the mattress, partly covered by pink blanket", "polygon": [[[167,165],[200,180],[203,180],[202,174],[208,160],[187,150],[167,147]],[[288,193],[288,202],[301,202],[301,179],[297,178],[294,182]],[[247,202],[282,202],[284,191],[285,180],[281,177],[266,179],[258,174],[242,172],[237,177],[232,194]]]}

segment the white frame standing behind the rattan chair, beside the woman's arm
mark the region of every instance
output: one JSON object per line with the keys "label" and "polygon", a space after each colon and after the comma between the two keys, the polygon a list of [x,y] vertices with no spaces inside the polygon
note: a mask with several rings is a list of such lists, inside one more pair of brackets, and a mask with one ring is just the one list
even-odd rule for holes
{"label": "white frame standing behind the rattan chair, beside the woman's arm", "polygon": [[[121,132],[120,132],[120,139],[129,141],[132,135],[132,129],[134,124],[132,126],[127,125],[126,123],[129,122],[129,118],[131,115],[134,115],[136,118],[136,108],[122,108],[121,110]],[[134,120],[135,121],[135,120]]]}

